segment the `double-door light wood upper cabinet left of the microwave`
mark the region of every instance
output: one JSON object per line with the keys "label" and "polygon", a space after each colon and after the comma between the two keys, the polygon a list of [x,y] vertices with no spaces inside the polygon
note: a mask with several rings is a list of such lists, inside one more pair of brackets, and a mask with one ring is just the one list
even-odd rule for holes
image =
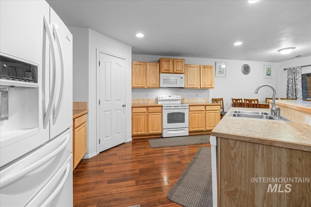
{"label": "double-door light wood upper cabinet left of the microwave", "polygon": [[132,62],[132,88],[158,88],[159,64]]}

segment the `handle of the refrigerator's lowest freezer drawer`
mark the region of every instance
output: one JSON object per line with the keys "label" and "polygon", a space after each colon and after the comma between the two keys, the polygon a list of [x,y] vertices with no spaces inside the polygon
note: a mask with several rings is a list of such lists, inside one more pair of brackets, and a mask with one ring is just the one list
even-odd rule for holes
{"label": "handle of the refrigerator's lowest freezer drawer", "polygon": [[[58,195],[58,193],[64,187],[68,179],[69,172],[70,172],[70,162],[66,164],[65,173],[63,169],[58,171],[52,177],[52,179],[49,180],[49,182],[42,188],[42,190],[38,192],[36,196],[26,205],[26,207],[35,207],[35,206],[47,207],[49,206],[51,202],[53,201],[53,199]],[[62,174],[64,174],[64,176],[61,176]],[[61,178],[62,180],[60,181]],[[55,184],[58,184],[58,186],[55,187]]]}

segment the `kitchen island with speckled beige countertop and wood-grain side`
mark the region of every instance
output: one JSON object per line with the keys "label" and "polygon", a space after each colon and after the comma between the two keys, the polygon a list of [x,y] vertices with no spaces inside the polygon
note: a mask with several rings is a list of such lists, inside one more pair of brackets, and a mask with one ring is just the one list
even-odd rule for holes
{"label": "kitchen island with speckled beige countertop and wood-grain side", "polygon": [[[294,108],[293,116],[311,117],[308,104],[276,102]],[[231,108],[212,130],[218,206],[311,206],[311,127],[295,117],[288,117],[293,122],[231,117],[232,110],[270,112]]]}

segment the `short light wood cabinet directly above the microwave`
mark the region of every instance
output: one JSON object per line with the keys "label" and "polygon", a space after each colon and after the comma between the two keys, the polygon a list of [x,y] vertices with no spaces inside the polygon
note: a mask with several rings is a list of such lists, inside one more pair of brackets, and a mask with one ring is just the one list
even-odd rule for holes
{"label": "short light wood cabinet directly above the microwave", "polygon": [[160,58],[160,73],[185,73],[185,59]]}

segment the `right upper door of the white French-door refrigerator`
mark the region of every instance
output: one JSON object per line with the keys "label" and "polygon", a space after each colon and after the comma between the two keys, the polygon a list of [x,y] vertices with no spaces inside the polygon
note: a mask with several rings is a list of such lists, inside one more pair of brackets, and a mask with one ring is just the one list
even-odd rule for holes
{"label": "right upper door of the white French-door refrigerator", "polygon": [[57,96],[50,119],[50,139],[72,126],[72,34],[51,9],[50,20],[55,42]]}

